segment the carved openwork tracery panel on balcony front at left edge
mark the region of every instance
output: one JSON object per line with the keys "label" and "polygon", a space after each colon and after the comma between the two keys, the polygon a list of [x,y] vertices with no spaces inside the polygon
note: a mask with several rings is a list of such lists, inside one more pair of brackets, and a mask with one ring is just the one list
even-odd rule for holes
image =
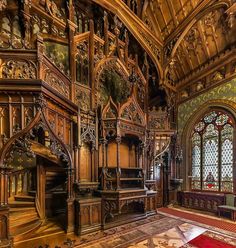
{"label": "carved openwork tracery panel on balcony front at left edge", "polygon": [[0,67],[1,78],[36,79],[36,66],[32,61],[8,60]]}

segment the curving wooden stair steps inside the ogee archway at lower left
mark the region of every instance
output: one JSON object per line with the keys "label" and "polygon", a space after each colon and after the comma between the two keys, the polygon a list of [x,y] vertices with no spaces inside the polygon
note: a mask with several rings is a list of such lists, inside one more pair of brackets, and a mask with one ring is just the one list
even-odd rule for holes
{"label": "curving wooden stair steps inside the ogee archway at lower left", "polygon": [[35,207],[34,196],[16,195],[9,200],[9,206],[10,234],[14,242],[25,239],[42,224]]}

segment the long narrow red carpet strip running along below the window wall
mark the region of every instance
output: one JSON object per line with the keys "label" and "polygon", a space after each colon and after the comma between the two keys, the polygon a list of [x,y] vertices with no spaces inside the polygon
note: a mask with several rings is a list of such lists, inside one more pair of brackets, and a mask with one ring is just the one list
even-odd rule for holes
{"label": "long narrow red carpet strip running along below the window wall", "polygon": [[181,210],[176,210],[173,208],[159,208],[158,211],[160,213],[171,214],[171,215],[174,215],[180,218],[200,222],[208,226],[213,226],[213,227],[217,227],[217,228],[229,231],[229,232],[236,233],[236,223],[234,224],[234,223],[226,222],[224,220],[208,218],[208,217],[205,217],[199,214],[187,213],[187,212],[183,212]]}

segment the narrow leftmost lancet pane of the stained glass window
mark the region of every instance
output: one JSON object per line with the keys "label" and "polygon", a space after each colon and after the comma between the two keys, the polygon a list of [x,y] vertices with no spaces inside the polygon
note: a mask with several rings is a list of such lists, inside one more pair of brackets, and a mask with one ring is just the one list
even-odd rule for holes
{"label": "narrow leftmost lancet pane of the stained glass window", "polygon": [[201,189],[201,137],[195,133],[192,138],[192,189]]}

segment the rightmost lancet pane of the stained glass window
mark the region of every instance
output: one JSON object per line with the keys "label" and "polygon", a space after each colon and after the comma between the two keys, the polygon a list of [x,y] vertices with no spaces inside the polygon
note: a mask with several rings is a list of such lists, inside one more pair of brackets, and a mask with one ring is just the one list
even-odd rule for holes
{"label": "rightmost lancet pane of the stained glass window", "polygon": [[225,125],[221,134],[221,191],[233,192],[233,127]]}

